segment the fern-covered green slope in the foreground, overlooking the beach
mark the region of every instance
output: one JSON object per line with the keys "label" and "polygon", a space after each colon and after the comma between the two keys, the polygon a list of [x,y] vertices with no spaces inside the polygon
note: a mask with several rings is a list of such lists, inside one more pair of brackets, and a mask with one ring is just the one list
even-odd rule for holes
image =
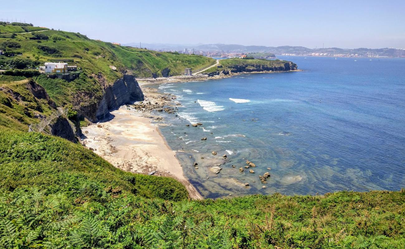
{"label": "fern-covered green slope in the foreground, overlooking the beach", "polygon": [[404,191],[188,201],[172,179],[123,172],[41,134],[0,132],[0,189],[0,248],[405,245]]}

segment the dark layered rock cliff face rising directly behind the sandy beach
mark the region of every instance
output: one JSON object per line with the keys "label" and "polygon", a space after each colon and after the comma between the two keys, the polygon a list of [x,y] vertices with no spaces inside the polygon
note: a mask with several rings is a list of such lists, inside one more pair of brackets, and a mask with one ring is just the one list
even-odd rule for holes
{"label": "dark layered rock cliff face rising directly behind the sandy beach", "polygon": [[123,104],[143,100],[143,93],[138,82],[132,75],[124,75],[123,78],[104,88],[102,99],[98,102],[94,113],[86,113],[92,121],[100,121],[110,117],[111,110],[115,110]]}

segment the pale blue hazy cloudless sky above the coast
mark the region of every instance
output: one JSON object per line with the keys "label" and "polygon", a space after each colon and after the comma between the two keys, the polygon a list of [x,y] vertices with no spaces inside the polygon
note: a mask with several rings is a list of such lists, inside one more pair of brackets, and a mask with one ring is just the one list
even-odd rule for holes
{"label": "pale blue hazy cloudless sky above the coast", "polygon": [[0,18],[119,43],[405,49],[405,0],[4,0]]}

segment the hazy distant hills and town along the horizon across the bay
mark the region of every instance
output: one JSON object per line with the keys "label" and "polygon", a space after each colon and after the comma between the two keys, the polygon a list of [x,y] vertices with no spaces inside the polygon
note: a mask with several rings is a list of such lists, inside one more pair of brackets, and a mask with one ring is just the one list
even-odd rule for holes
{"label": "hazy distant hills and town along the horizon across the bay", "polygon": [[[130,47],[139,47],[139,44],[128,43],[124,44]],[[318,48],[309,49],[307,47],[299,46],[280,46],[280,47],[266,47],[266,46],[244,46],[237,44],[163,44],[163,43],[142,43],[142,47],[152,50],[176,50],[183,51],[210,51],[210,52],[224,52],[224,53],[274,53],[281,54],[295,54],[295,55],[310,55],[312,53],[323,53],[326,55],[360,55],[360,56],[388,56],[388,57],[405,57],[405,49],[382,48],[382,49],[341,49],[337,47],[332,48]]]}

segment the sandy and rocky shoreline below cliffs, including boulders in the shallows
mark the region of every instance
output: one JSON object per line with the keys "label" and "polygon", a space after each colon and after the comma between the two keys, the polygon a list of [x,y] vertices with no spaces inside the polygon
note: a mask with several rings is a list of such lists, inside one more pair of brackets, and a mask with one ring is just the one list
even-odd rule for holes
{"label": "sandy and rocky shoreline below cliffs, including boulders in the shallows", "polygon": [[[271,72],[275,73],[274,71]],[[153,172],[154,175],[173,177],[185,185],[191,198],[201,199],[203,198],[201,194],[198,193],[194,186],[192,186],[183,175],[183,169],[176,157],[176,152],[168,147],[165,138],[160,134],[158,129],[158,126],[164,125],[159,122],[163,119],[159,113],[166,112],[175,114],[178,107],[181,106],[181,103],[177,100],[175,95],[161,93],[157,88],[149,87],[149,85],[168,82],[181,83],[222,79],[239,74],[242,73],[230,72],[229,74],[218,74],[211,77],[205,74],[199,74],[188,77],[175,76],[157,79],[137,79],[139,87],[143,92],[143,100],[133,102],[132,104],[125,104],[118,110],[112,111],[111,114],[115,117],[109,121],[83,128],[85,138],[82,140],[82,143],[92,148],[95,153],[122,170],[141,174],[150,174]],[[136,123],[136,125],[133,123]],[[154,134],[153,131],[151,132],[150,126],[154,127],[153,129],[156,131]],[[198,126],[198,124],[196,124],[196,126]],[[122,130],[123,127],[127,130]],[[124,133],[126,134],[125,136],[123,136]],[[135,137],[131,138],[134,136],[134,133],[136,133]],[[157,138],[156,135],[160,136],[160,138]],[[148,140],[150,136],[153,136],[150,140],[153,140],[154,145],[151,146],[149,142],[143,144],[143,137]],[[140,144],[142,146],[139,146]],[[157,147],[159,147],[159,149],[157,149]],[[166,151],[166,153],[162,154],[160,152],[162,150]],[[220,165],[226,162],[226,155],[220,158],[225,161],[220,160],[221,162],[219,162],[216,160],[215,162],[218,161],[217,164],[213,164],[214,166],[211,166],[209,169],[215,174],[218,174],[222,170]],[[200,160],[196,160],[196,162],[200,163]],[[198,168],[198,163],[195,163],[194,168]],[[247,168],[250,173],[254,173],[252,169],[248,168],[254,167],[255,165],[249,161],[246,164],[245,168]],[[258,177],[258,180],[265,184],[266,178],[270,177],[270,173],[267,172],[265,175]],[[234,179],[234,181],[239,183],[236,179]],[[249,187],[249,183],[240,182],[239,184],[243,187]],[[263,188],[265,188],[265,186],[263,186]]]}

